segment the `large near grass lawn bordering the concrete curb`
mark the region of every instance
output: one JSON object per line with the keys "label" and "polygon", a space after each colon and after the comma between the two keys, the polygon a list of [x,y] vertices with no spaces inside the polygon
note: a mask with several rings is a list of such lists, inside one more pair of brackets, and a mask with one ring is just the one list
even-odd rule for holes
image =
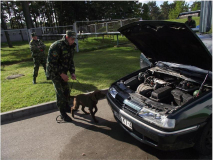
{"label": "large near grass lawn bordering the concrete curb", "polygon": [[[108,88],[112,82],[139,69],[140,51],[133,46],[110,47],[75,54],[76,76],[71,95]],[[1,68],[1,112],[55,100],[51,81],[47,81],[40,66],[37,84],[32,84],[33,62],[26,61]],[[12,74],[24,74],[7,80]]]}

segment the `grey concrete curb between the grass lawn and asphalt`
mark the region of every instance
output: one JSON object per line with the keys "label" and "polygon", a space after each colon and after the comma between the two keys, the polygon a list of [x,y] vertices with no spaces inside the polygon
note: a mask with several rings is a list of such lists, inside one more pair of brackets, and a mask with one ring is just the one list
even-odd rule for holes
{"label": "grey concrete curb between the grass lawn and asphalt", "polygon": [[[101,91],[107,91],[107,90],[108,90],[108,88],[102,89]],[[94,91],[92,91],[92,92],[94,92]],[[89,94],[89,93],[92,93],[92,92],[88,92],[88,93],[84,93],[84,94]],[[13,110],[13,111],[1,113],[1,122],[5,123],[5,122],[8,122],[8,121],[15,121],[19,118],[32,116],[34,114],[42,113],[42,112],[45,112],[45,111],[50,111],[50,110],[53,110],[53,109],[57,109],[56,101],[51,101],[51,102],[47,102],[47,103],[42,103],[42,104],[30,106],[30,107],[16,109],[16,110]]]}

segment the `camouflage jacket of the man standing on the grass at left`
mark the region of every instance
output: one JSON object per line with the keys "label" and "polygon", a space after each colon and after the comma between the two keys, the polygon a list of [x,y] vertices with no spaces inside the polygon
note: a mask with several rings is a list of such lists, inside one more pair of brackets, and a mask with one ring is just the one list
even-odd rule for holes
{"label": "camouflage jacket of the man standing on the grass at left", "polygon": [[32,39],[30,41],[30,50],[32,52],[32,57],[36,58],[36,57],[44,56],[45,47],[46,46],[40,39],[38,39],[36,41]]}

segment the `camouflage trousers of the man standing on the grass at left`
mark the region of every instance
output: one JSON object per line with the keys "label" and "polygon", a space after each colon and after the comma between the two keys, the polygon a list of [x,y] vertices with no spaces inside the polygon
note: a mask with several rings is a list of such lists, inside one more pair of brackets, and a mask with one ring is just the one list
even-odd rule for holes
{"label": "camouflage trousers of the man standing on the grass at left", "polygon": [[39,70],[39,65],[42,64],[44,71],[46,73],[46,58],[45,57],[36,57],[33,58],[34,62],[34,71],[33,71],[33,77],[38,76],[38,70]]}

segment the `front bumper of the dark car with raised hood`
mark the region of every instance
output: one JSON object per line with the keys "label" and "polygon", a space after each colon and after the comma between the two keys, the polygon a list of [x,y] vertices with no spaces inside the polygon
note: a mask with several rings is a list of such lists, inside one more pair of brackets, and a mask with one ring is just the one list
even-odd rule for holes
{"label": "front bumper of the dark car with raised hood", "polygon": [[[140,142],[161,150],[177,150],[194,146],[199,131],[199,125],[172,132],[162,131],[138,120],[120,109],[121,106],[119,106],[119,102],[111,97],[109,93],[107,94],[107,100],[116,121],[124,130]],[[132,129],[126,127],[122,123],[121,117],[132,123]]]}

